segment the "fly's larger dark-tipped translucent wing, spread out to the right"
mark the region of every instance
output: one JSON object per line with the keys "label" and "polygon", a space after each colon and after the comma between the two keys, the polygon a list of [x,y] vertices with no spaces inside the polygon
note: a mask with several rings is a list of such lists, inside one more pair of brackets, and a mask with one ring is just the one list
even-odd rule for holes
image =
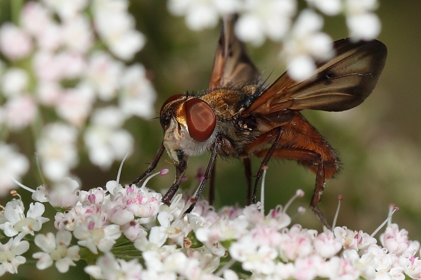
{"label": "fly's larger dark-tipped translucent wing, spread out to the right", "polygon": [[287,73],[279,77],[243,114],[270,114],[283,109],[344,111],[361,104],[374,90],[386,62],[387,48],[380,41],[333,43],[335,57],[316,62],[316,74],[304,82]]}

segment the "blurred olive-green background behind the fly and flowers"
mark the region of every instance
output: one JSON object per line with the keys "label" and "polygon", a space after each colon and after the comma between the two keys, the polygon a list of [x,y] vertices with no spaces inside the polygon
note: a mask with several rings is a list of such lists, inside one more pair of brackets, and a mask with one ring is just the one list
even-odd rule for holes
{"label": "blurred olive-green background behind the fly and flowers", "polygon": [[[378,39],[388,47],[388,58],[374,92],[362,105],[346,112],[303,112],[337,151],[342,162],[339,174],[326,181],[319,207],[327,220],[332,221],[338,195],[342,194],[344,200],[337,225],[371,233],[386,219],[389,205],[396,204],[400,211],[393,216],[393,222],[401,229],[407,229],[410,239],[421,240],[421,2],[379,2],[377,14],[382,22],[382,32]],[[219,36],[219,27],[201,32],[189,30],[184,17],[169,14],[166,5],[166,0],[131,0],[129,8],[136,18],[136,29],[147,38],[145,47],[133,62],[145,66],[147,77],[158,93],[156,116],[169,96],[207,88]],[[9,7],[8,1],[0,2],[2,21],[7,20]],[[334,40],[347,37],[341,16],[325,18],[323,30]],[[249,46],[255,64],[264,77],[269,77],[269,82],[285,71],[278,60],[279,51],[280,46],[272,42],[258,48]],[[158,119],[137,117],[129,119],[124,127],[135,137],[134,152],[125,161],[120,178],[121,183],[127,184],[147,169],[161,143],[162,129]],[[25,137],[25,133],[16,133],[12,140]],[[30,143],[16,142],[22,153],[31,156]],[[190,159],[189,179],[183,183],[183,188],[199,184],[195,175],[199,167],[206,168],[209,158],[208,153]],[[157,170],[168,168],[170,173],[154,178],[148,187],[166,191],[171,185],[175,171],[165,159],[169,160],[166,154]],[[252,163],[255,173],[260,159],[252,158]],[[119,162],[115,162],[109,170],[102,170],[82,153],[73,173],[81,179],[82,187],[88,189],[115,180],[118,166]],[[244,206],[245,178],[241,160],[218,159],[216,166],[215,207]],[[308,208],[315,179],[313,173],[295,162],[272,160],[265,181],[265,208],[284,205],[301,188],[305,197],[296,200],[288,213],[294,216],[297,207],[304,205],[307,212],[295,217],[293,223],[321,230],[320,222]],[[23,178],[23,184],[36,187],[34,182],[36,186],[42,184],[31,159],[30,171]],[[205,197],[207,193],[205,189]],[[10,196],[3,197],[1,204],[8,200]],[[42,272],[37,273],[43,278]],[[30,274],[28,270],[28,274],[21,277],[32,278],[33,271]]]}

